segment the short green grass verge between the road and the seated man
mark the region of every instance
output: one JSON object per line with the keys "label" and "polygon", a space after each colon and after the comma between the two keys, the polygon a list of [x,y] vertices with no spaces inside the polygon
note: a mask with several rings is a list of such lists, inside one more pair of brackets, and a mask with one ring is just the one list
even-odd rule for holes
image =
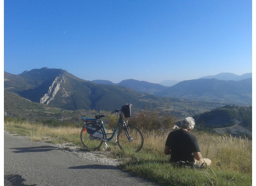
{"label": "short green grass verge between the road and the seated man", "polygon": [[124,161],[120,168],[168,185],[252,185],[250,174],[214,167],[178,168],[166,158],[147,156],[148,158],[138,157],[134,154],[128,158],[127,154],[119,155]]}

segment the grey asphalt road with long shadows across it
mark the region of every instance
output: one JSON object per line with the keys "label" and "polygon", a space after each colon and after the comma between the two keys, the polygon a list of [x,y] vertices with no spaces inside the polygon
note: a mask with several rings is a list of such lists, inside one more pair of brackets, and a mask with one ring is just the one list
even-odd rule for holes
{"label": "grey asphalt road with long shadows across it", "polygon": [[[86,152],[84,152],[86,153]],[[4,132],[4,185],[158,185],[107,163]]]}

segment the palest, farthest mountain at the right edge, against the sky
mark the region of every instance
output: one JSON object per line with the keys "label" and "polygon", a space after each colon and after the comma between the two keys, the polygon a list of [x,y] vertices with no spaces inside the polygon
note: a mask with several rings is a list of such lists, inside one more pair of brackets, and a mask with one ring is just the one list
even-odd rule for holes
{"label": "palest, farthest mountain at the right edge, against the sky", "polygon": [[243,79],[248,79],[252,78],[252,73],[246,73],[243,75],[236,75],[233,73],[220,73],[217,75],[207,75],[205,77],[201,77],[200,79],[219,79],[219,80],[243,80]]}

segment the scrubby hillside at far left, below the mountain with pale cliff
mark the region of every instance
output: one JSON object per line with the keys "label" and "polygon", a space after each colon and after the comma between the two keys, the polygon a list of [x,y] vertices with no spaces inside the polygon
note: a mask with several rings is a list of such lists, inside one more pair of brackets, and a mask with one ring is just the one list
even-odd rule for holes
{"label": "scrubby hillside at far left, below the mountain with pale cliff", "polygon": [[53,123],[56,121],[80,123],[80,117],[94,117],[93,110],[69,111],[62,108],[50,107],[46,104],[31,102],[18,94],[4,90],[4,116],[12,118]]}

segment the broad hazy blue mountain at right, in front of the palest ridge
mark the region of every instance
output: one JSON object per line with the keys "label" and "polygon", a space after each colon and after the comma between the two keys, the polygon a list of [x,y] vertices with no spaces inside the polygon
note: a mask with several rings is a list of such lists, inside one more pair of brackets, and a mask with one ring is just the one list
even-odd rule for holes
{"label": "broad hazy blue mountain at right, in front of the palest ridge", "polygon": [[158,96],[252,105],[252,78],[240,81],[194,79],[179,82],[157,93]]}

